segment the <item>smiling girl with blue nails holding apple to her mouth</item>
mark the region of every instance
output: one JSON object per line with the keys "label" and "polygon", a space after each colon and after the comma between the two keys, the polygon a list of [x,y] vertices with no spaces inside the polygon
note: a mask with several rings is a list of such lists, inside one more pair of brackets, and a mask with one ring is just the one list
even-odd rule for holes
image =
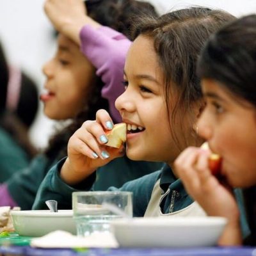
{"label": "smiling girl with blue nails holding apple to her mouth", "polygon": [[[166,165],[120,188],[132,191],[134,216],[205,215],[184,190],[173,161],[188,145],[202,144],[195,124],[205,103],[195,63],[209,35],[233,19],[218,10],[188,8],[140,21],[125,61],[125,92],[116,99],[116,108],[127,124],[127,156]],[[109,122],[108,112],[101,109],[96,120],[84,122],[74,133],[68,157],[52,167],[42,182],[35,209],[50,198],[68,209],[73,191],[94,189],[95,170],[122,150],[102,141]]]}

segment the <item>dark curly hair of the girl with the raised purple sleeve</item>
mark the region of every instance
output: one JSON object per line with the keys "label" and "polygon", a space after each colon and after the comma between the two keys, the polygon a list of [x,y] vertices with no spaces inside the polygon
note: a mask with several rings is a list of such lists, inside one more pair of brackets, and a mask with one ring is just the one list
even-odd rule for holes
{"label": "dark curly hair of the girl with the raised purple sleeve", "polygon": [[[88,15],[104,26],[116,29],[131,39],[131,24],[141,15],[157,16],[157,12],[150,3],[136,0],[89,0],[85,2]],[[101,97],[101,89],[104,84],[98,79],[93,84],[91,95],[84,109],[74,118],[72,124],[57,131],[49,141],[49,147],[45,150],[48,157],[55,158],[67,156],[67,143],[74,132],[81,127],[84,121],[94,120],[98,109],[108,111],[108,100]]]}

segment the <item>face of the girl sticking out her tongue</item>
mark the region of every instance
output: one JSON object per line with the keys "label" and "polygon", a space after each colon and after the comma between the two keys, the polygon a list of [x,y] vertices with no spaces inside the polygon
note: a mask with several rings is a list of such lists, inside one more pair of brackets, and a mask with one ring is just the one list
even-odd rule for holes
{"label": "face of the girl sticking out her tongue", "polygon": [[86,104],[95,68],[78,45],[60,34],[57,52],[45,63],[43,72],[47,78],[47,92],[41,95],[45,115],[56,120],[74,118]]}

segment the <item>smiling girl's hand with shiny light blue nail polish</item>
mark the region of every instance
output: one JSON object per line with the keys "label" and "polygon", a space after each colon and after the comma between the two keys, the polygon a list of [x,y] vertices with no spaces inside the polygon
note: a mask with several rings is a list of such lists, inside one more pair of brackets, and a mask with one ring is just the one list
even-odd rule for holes
{"label": "smiling girl's hand with shiny light blue nail polish", "polygon": [[68,141],[68,157],[61,168],[61,179],[67,184],[76,184],[100,166],[124,155],[124,145],[106,146],[106,131],[112,127],[113,122],[104,109],[97,111],[96,120],[84,122]]}

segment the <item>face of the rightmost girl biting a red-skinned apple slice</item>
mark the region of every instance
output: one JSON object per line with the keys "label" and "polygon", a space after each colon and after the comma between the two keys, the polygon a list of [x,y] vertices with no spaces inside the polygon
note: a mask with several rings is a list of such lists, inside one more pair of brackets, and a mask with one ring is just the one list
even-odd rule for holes
{"label": "face of the rightmost girl biting a red-skinned apple slice", "polygon": [[223,158],[221,174],[234,187],[256,184],[256,113],[212,79],[202,80],[207,106],[198,132]]}

